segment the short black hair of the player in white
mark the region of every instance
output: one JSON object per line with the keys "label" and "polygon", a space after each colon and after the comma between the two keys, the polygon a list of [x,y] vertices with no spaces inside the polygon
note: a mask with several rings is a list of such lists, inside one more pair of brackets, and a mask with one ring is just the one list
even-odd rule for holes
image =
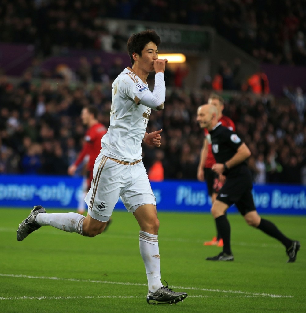
{"label": "short black hair of the player in white", "polygon": [[134,64],[133,53],[135,52],[141,55],[141,51],[145,48],[145,45],[148,44],[150,41],[154,42],[157,48],[161,43],[161,38],[152,29],[147,29],[140,33],[136,33],[130,36],[127,46],[128,54],[131,59],[132,65]]}

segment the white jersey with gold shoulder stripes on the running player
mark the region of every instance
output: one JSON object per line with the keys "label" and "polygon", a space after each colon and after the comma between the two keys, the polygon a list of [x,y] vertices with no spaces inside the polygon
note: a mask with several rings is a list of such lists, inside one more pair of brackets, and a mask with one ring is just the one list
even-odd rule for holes
{"label": "white jersey with gold shoulder stripes on the running player", "polygon": [[[160,86],[166,90],[164,74],[157,73],[155,80],[157,78]],[[144,95],[152,93],[146,83],[129,67],[118,75],[112,87],[110,126],[101,139],[103,147],[101,152],[105,156],[122,161],[140,160],[141,142],[145,136],[151,108],[156,109],[156,105],[152,104],[150,108],[139,102]]]}

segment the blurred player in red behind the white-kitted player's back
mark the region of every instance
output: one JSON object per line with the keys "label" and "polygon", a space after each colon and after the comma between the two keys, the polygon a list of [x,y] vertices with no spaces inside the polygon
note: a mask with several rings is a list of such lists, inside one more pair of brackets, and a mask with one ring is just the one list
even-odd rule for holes
{"label": "blurred player in red behind the white-kitted player's back", "polygon": [[[85,157],[88,157],[88,162],[86,164],[86,182],[84,186],[85,195],[89,191],[93,179],[94,161],[101,150],[101,139],[107,131],[106,127],[99,123],[97,116],[98,110],[93,105],[83,108],[81,112],[81,120],[85,126],[88,126],[88,130],[84,136],[84,146],[76,161],[68,167],[67,171],[69,175],[74,175],[81,162],[84,161]],[[84,206],[85,202],[78,208],[79,213],[84,213]]]}

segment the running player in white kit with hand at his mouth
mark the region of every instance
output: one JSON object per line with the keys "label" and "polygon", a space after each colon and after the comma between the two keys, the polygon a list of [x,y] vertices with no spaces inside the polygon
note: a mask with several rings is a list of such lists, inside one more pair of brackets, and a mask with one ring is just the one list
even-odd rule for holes
{"label": "running player in white kit with hand at his mouth", "polygon": [[[148,280],[147,302],[150,304],[183,301],[185,292],[174,292],[161,283],[158,246],[159,220],[156,201],[145,167],[141,161],[141,142],[159,147],[161,131],[146,132],[151,109],[162,110],[166,97],[164,71],[166,59],[158,59],[160,37],[153,30],[133,34],[128,40],[132,68],[125,68],[113,82],[110,126],[102,138],[96,159],[91,188],[85,197],[86,218],[78,213],[45,213],[35,206],[20,225],[17,240],[44,225],[94,237],[103,232],[119,197],[133,213],[140,226],[140,254]],[[155,71],[151,92],[147,77]]]}

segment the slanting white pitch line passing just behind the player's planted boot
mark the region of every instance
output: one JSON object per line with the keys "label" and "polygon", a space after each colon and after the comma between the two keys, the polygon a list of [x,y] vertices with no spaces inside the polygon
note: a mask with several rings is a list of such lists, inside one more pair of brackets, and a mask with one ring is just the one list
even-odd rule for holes
{"label": "slanting white pitch line passing just behind the player's planted boot", "polygon": [[[122,283],[115,281],[105,281],[105,280],[84,280],[84,279],[74,279],[74,278],[60,278],[60,277],[45,277],[45,276],[28,276],[28,275],[14,275],[14,274],[1,274],[2,277],[14,277],[14,278],[29,278],[29,279],[45,279],[45,280],[63,280],[63,281],[76,281],[83,283],[98,283],[98,284],[112,284],[112,285],[125,285],[125,286],[147,286],[146,284],[139,283]],[[207,288],[195,288],[195,287],[182,287],[182,286],[173,286],[173,289],[182,289],[182,290],[196,290],[196,291],[208,291],[208,292],[221,292],[226,294],[237,294],[250,297],[267,297],[267,298],[293,298],[291,295],[273,295],[267,293],[253,293],[241,290],[221,290],[221,289],[207,289]],[[5,300],[0,297],[0,300]]]}

